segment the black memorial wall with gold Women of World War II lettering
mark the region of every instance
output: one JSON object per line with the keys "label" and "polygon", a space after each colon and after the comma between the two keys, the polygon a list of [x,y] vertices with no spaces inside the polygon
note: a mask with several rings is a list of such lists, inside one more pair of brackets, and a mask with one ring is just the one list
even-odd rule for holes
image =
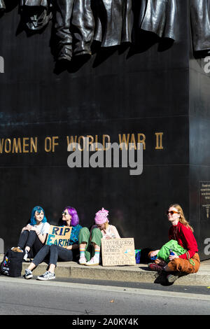
{"label": "black memorial wall with gold Women of World War II lettering", "polygon": [[208,259],[210,1],[0,0],[0,11],[4,249],[36,205],[52,225],[75,207],[88,227],[104,207],[135,248],[158,248],[176,202]]}

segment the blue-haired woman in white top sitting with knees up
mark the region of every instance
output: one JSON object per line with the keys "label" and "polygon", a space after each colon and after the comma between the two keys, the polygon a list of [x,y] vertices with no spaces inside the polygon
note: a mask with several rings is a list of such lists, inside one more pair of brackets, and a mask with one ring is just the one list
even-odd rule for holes
{"label": "blue-haired woman in white top sitting with knees up", "polygon": [[30,223],[22,228],[18,247],[13,247],[13,251],[23,251],[25,249],[24,260],[34,258],[45,244],[45,239],[50,229],[50,224],[45,217],[43,208],[37,206],[31,211]]}

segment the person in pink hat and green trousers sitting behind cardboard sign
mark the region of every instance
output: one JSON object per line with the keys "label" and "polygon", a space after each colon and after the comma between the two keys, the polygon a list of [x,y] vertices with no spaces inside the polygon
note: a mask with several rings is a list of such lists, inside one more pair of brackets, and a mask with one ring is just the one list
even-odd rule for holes
{"label": "person in pink hat and green trousers sitting behind cardboard sign", "polygon": [[102,239],[120,238],[116,227],[109,224],[108,214],[109,211],[102,208],[102,210],[97,212],[94,218],[95,225],[92,225],[90,231],[88,228],[82,228],[80,230],[78,237],[80,265],[99,265]]}

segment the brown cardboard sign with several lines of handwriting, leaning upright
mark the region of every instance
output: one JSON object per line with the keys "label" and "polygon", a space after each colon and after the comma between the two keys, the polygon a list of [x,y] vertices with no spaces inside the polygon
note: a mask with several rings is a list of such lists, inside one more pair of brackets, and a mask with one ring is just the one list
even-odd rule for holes
{"label": "brown cardboard sign with several lines of handwriting, leaning upright", "polygon": [[102,239],[102,265],[136,265],[134,238]]}

